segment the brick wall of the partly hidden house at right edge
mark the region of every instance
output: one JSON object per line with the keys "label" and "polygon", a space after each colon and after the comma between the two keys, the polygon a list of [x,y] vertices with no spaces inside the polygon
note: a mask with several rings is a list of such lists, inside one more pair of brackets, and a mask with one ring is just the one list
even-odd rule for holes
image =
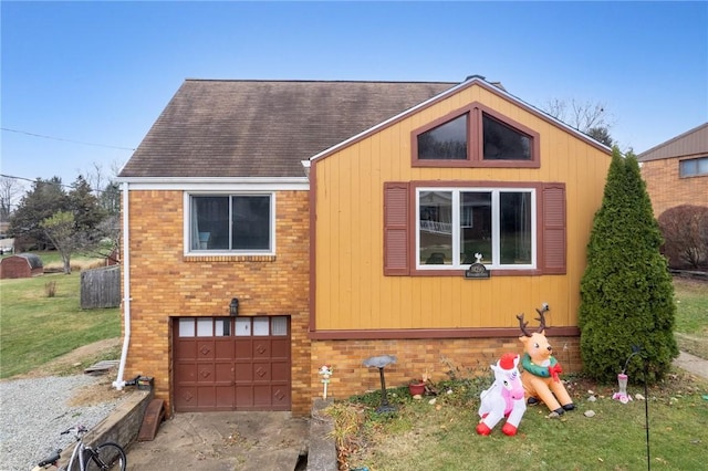
{"label": "brick wall of the partly hidden house at right edge", "polygon": [[679,178],[678,158],[642,163],[654,217],[679,205],[708,206],[708,176]]}

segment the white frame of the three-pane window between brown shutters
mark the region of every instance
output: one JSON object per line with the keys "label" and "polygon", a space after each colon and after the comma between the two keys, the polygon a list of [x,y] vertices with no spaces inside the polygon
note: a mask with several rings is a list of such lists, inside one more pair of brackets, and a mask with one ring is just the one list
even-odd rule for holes
{"label": "white frame of the three-pane window between brown shutters", "polygon": [[[452,263],[451,264],[425,264],[420,262],[420,193],[425,191],[450,191],[452,195]],[[531,263],[527,264],[501,264],[490,263],[482,259],[482,264],[488,270],[503,269],[503,270],[529,270],[535,269],[538,264],[538,248],[537,248],[537,189],[533,187],[417,187],[416,188],[416,202],[415,202],[415,260],[416,270],[420,271],[439,271],[439,270],[466,270],[469,264],[462,264],[460,254],[460,193],[462,192],[487,192],[491,193],[491,208],[492,208],[492,257],[491,260],[501,260],[501,247],[499,240],[499,195],[501,192],[529,192],[531,193]]]}

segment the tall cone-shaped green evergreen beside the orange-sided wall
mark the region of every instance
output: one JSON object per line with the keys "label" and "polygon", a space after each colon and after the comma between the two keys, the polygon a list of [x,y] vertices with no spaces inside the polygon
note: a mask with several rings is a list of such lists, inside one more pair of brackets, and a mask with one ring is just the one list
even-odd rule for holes
{"label": "tall cone-shaped green evergreen beside the orange-sided wall", "polygon": [[[581,356],[592,378],[613,381],[634,346],[648,362],[648,383],[663,378],[678,356],[674,285],[662,243],[637,159],[614,147],[581,281]],[[625,373],[643,380],[643,362],[629,362]]]}

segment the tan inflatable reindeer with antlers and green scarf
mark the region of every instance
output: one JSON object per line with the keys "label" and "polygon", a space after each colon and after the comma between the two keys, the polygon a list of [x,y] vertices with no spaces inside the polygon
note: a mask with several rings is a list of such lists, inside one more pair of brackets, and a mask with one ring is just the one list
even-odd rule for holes
{"label": "tan inflatable reindeer with antlers and green scarf", "polygon": [[521,332],[519,337],[523,344],[524,354],[521,358],[523,373],[521,380],[525,389],[525,397],[529,404],[537,404],[542,400],[546,407],[558,415],[565,410],[575,409],[575,405],[565,390],[559,375],[563,373],[560,363],[553,357],[553,348],[545,338],[545,313],[548,305],[535,310],[539,313],[539,329],[532,334],[527,331],[528,322],[523,322],[523,314],[517,315]]}

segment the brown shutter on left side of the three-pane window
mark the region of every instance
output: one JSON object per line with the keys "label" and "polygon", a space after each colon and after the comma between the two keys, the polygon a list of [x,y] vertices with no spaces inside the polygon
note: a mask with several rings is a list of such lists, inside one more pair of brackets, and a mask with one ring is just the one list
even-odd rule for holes
{"label": "brown shutter on left side of the three-pane window", "polygon": [[384,184],[384,275],[407,275],[408,184]]}

